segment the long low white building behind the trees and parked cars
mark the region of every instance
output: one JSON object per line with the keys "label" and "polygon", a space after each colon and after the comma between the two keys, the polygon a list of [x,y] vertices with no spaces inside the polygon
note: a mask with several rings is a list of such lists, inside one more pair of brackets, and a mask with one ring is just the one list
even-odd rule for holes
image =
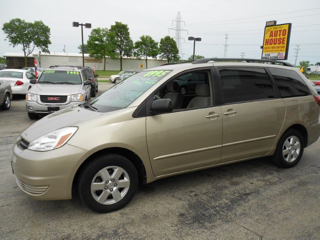
{"label": "long low white building behind the trees and parked cars", "polygon": [[[20,57],[24,57],[23,53],[16,53],[16,52],[6,52],[3,54],[3,56],[5,56],[7,60],[8,58],[17,59]],[[68,52],[43,53],[41,52],[39,54],[38,52],[32,52],[28,56],[28,58],[35,58],[37,61],[38,67],[49,67],[52,65],[74,65],[74,66],[82,65],[82,53],[68,53]],[[155,67],[155,66],[159,66],[161,64],[167,63],[167,60],[148,58],[147,63],[148,63],[148,68],[151,68],[151,67]],[[141,64],[142,64],[142,68],[141,68]],[[92,69],[93,69],[93,66],[95,65],[95,68],[97,70],[103,70],[104,59],[95,59],[94,57],[90,57],[89,54],[84,53],[84,65],[90,66]],[[12,66],[8,65],[8,67],[12,67]],[[13,66],[13,67],[20,68],[17,66]],[[106,57],[105,69],[119,70],[120,59],[113,60],[110,57]],[[145,59],[139,60],[133,57],[123,57],[122,69],[123,70],[145,69]]]}

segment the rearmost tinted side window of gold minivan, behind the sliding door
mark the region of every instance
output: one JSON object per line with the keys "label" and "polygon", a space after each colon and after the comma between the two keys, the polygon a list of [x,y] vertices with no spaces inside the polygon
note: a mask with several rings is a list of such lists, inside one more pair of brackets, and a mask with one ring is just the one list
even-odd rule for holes
{"label": "rearmost tinted side window of gold minivan, behind the sliding door", "polygon": [[278,86],[281,97],[305,96],[310,94],[309,88],[295,71],[275,67],[268,67],[268,69]]}

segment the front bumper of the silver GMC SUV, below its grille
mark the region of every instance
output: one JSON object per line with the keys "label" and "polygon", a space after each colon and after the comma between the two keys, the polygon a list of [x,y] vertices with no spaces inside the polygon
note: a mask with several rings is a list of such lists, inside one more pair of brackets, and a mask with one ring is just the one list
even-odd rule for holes
{"label": "front bumper of the silver GMC SUV, below its grille", "polygon": [[[69,106],[77,106],[85,101],[71,101],[67,104],[39,104],[36,101],[25,101],[26,111],[35,114],[49,114],[52,110],[48,110],[48,107],[59,107],[59,110],[67,108]],[[52,108],[51,108],[52,109]]]}

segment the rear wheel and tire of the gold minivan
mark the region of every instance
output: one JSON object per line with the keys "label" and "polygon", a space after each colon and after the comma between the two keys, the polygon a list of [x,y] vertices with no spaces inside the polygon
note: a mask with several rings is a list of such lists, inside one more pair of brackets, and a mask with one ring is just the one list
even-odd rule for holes
{"label": "rear wheel and tire of the gold minivan", "polygon": [[292,167],[302,157],[304,140],[302,134],[290,129],[283,133],[274,152],[274,162],[284,168]]}

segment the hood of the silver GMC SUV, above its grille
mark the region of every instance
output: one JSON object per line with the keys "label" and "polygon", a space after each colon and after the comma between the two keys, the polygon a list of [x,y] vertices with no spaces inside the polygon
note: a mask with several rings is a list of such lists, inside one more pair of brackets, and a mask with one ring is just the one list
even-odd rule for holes
{"label": "hood of the silver GMC SUV, above its grille", "polygon": [[80,93],[81,84],[49,84],[36,83],[29,90],[37,95],[72,95]]}

